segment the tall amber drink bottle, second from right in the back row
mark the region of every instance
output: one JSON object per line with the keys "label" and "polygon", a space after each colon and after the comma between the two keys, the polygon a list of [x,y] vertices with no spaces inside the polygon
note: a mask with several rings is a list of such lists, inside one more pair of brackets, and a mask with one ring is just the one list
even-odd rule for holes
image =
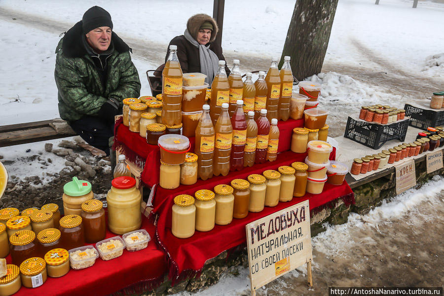
{"label": "tall amber drink bottle, second from right in the back row", "polygon": [[267,83],[267,105],[268,111],[267,118],[271,121],[271,118],[278,118],[279,107],[279,94],[281,92],[281,77],[279,76],[279,70],[277,68],[277,58],[271,59],[271,66],[268,69],[265,76],[265,82]]}

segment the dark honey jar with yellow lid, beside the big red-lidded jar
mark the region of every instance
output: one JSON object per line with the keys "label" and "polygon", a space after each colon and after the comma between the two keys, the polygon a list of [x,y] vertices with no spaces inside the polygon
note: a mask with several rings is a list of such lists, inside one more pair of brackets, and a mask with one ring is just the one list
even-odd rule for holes
{"label": "dark honey jar with yellow lid, beside the big red-lidded jar", "polygon": [[85,201],[82,203],[82,214],[80,216],[85,232],[85,242],[92,244],[105,239],[107,226],[103,202],[97,199]]}

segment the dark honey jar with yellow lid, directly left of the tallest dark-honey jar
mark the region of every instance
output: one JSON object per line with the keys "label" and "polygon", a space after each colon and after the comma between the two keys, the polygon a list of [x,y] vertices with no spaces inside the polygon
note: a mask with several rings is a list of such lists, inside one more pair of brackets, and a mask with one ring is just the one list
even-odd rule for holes
{"label": "dark honey jar with yellow lid, directly left of the tallest dark-honey jar", "polygon": [[85,231],[79,215],[67,215],[60,219],[61,246],[71,250],[85,244]]}

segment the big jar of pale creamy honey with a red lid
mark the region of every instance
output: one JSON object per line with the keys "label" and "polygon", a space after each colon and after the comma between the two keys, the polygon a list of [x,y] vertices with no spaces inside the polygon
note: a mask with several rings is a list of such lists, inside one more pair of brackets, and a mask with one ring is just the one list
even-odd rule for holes
{"label": "big jar of pale creamy honey with a red lid", "polygon": [[142,195],[136,188],[136,180],[118,177],[112,180],[107,194],[108,227],[112,233],[123,234],[140,228]]}

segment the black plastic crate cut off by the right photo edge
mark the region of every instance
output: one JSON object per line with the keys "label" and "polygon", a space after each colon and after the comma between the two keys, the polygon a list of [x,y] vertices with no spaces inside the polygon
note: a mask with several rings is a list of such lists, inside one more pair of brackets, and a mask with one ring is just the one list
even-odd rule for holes
{"label": "black plastic crate cut off by the right photo edge", "polygon": [[421,109],[409,104],[404,106],[406,116],[410,117],[410,125],[419,129],[427,129],[444,124],[444,111]]}

